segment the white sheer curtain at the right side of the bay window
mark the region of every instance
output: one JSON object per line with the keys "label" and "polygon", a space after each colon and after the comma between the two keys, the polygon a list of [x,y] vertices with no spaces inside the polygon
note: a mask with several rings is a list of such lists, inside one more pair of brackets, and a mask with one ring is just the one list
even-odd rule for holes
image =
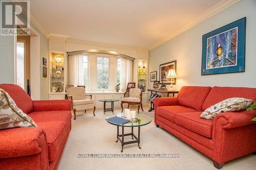
{"label": "white sheer curtain at the right side of the bay window", "polygon": [[121,90],[126,91],[127,83],[133,82],[133,61],[122,58]]}

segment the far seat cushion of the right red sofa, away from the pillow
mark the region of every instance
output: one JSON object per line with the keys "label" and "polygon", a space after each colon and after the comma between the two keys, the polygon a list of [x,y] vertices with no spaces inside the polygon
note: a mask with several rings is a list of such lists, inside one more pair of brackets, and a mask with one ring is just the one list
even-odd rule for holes
{"label": "far seat cushion of the right red sofa, away from the pillow", "polygon": [[175,123],[175,114],[182,112],[196,112],[197,110],[183,106],[159,106],[157,107],[157,115],[167,118]]}

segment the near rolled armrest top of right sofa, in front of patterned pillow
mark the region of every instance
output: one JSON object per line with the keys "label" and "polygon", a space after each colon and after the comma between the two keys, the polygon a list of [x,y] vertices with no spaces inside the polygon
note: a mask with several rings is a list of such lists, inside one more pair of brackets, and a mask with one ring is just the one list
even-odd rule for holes
{"label": "near rolled armrest top of right sofa, in front of patterned pillow", "polygon": [[254,124],[256,122],[251,121],[255,117],[253,113],[253,110],[220,113],[214,118],[213,125],[215,126],[219,122],[223,126],[223,129],[232,129]]}

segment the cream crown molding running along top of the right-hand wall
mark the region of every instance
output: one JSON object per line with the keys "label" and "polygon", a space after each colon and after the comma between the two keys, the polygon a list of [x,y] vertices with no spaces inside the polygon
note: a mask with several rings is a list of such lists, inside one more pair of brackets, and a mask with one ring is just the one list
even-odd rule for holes
{"label": "cream crown molding running along top of the right-hand wall", "polygon": [[193,20],[186,23],[186,25],[182,26],[181,28],[175,30],[173,33],[168,34],[164,39],[156,42],[154,45],[150,46],[150,50],[153,50],[157,46],[165,43],[166,41],[173,39],[174,37],[180,35],[181,33],[187,31],[188,29],[198,25],[200,22],[204,21],[205,19],[221,12],[222,10],[230,7],[233,4],[238,3],[240,0],[223,0],[220,3],[216,4],[215,6],[209,8],[207,11],[203,12],[202,14],[195,17]]}

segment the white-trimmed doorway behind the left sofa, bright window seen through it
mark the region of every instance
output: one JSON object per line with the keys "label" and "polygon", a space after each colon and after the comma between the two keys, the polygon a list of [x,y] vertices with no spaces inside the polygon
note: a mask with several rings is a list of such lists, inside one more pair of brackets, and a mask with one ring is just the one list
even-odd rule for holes
{"label": "white-trimmed doorway behind the left sofa, bright window seen through it", "polygon": [[14,37],[14,83],[40,100],[40,35],[31,28],[28,36]]}

